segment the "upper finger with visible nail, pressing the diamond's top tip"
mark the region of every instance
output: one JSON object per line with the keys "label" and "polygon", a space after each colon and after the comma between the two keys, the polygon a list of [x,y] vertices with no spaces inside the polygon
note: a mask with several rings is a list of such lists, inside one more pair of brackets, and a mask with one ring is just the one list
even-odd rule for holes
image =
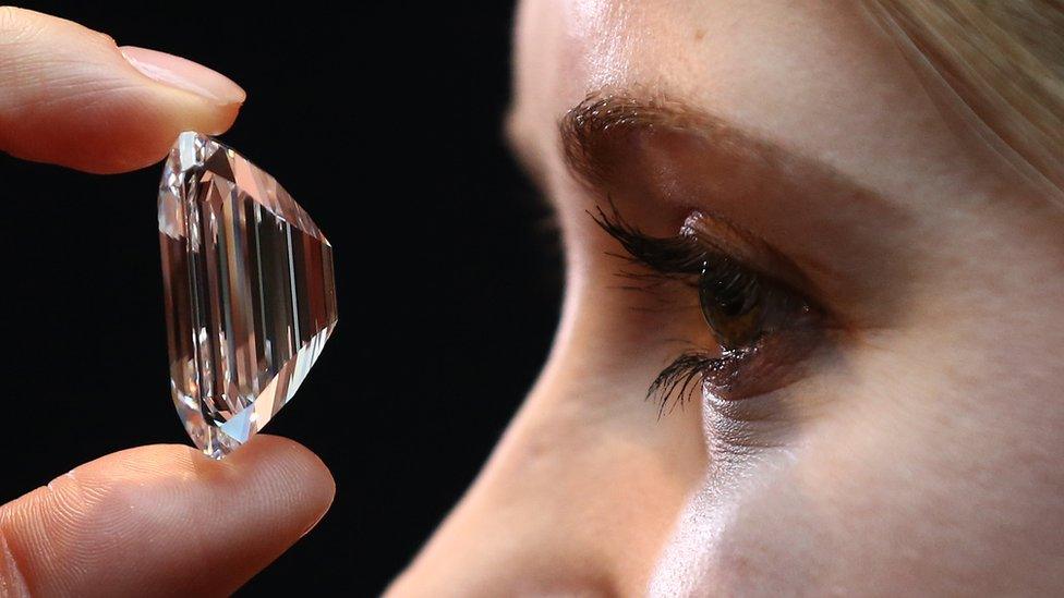
{"label": "upper finger with visible nail, pressing the diamond's top tip", "polygon": [[181,131],[218,134],[244,91],[205,66],[0,7],[0,150],[88,172],[156,162]]}

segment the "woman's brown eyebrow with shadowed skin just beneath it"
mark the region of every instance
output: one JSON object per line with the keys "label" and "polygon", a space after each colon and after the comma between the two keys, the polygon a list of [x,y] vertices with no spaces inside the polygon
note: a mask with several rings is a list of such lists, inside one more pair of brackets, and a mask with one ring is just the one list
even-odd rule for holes
{"label": "woman's brown eyebrow with shadowed skin just beneath it", "polygon": [[673,171],[698,179],[714,203],[757,204],[764,209],[860,206],[876,218],[906,217],[896,202],[827,162],[661,94],[591,94],[565,113],[558,131],[569,171],[604,194],[618,178],[630,178],[631,169],[656,149],[658,155],[668,151],[682,158]]}

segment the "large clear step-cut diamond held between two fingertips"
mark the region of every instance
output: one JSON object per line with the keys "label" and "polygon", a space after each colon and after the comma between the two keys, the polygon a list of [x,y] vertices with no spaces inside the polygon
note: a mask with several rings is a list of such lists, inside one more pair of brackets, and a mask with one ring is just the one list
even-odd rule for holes
{"label": "large clear step-cut diamond held between two fingertips", "polygon": [[332,246],[273,176],[182,133],[159,184],[170,388],[221,459],[288,403],[336,327]]}

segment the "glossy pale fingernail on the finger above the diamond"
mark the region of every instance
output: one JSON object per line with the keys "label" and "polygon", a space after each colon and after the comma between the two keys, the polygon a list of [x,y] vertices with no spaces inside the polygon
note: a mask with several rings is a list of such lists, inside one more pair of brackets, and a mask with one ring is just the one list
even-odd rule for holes
{"label": "glossy pale fingernail on the finger above the diamond", "polygon": [[191,60],[134,46],[122,46],[119,50],[134,69],[159,83],[223,105],[242,103],[246,97],[229,77]]}

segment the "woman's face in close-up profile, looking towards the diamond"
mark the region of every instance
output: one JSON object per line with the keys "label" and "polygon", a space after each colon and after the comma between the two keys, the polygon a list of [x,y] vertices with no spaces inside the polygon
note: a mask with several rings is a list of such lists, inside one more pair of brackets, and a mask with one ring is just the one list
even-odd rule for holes
{"label": "woman's face in close-up profile, looking towards the diamond", "polygon": [[564,316],[392,590],[1060,591],[1049,194],[856,2],[535,0],[516,36]]}

